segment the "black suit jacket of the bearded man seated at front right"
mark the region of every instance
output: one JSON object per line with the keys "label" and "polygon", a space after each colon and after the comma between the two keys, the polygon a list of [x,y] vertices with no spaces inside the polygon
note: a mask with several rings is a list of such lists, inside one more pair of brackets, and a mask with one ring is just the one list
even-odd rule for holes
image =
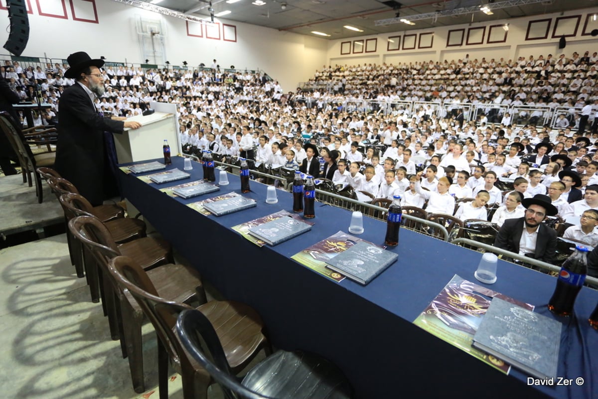
{"label": "black suit jacket of the bearded man seated at front right", "polygon": [[[519,253],[519,240],[523,234],[525,218],[507,219],[499,230],[494,246],[507,251]],[[538,238],[536,239],[536,251],[532,258],[553,263],[557,249],[557,232],[554,229],[540,224]]]}

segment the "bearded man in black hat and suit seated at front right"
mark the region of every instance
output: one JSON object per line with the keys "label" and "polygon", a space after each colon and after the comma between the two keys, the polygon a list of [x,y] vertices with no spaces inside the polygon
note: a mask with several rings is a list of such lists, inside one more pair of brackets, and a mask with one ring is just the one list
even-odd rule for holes
{"label": "bearded man in black hat and suit seated at front right", "polygon": [[494,245],[497,248],[553,263],[557,248],[557,232],[542,223],[547,216],[557,214],[550,197],[536,194],[521,201],[526,208],[523,218],[507,219],[499,230]]}

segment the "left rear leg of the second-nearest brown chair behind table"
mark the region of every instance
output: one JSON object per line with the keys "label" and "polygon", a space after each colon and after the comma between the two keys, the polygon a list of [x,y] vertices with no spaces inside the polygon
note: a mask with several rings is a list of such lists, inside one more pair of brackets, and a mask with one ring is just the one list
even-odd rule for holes
{"label": "left rear leg of the second-nearest brown chair behind table", "polygon": [[[138,394],[145,391],[144,384],[144,355],[143,343],[141,337],[141,325],[143,323],[143,314],[136,314],[135,309],[131,307],[126,298],[120,301],[121,323],[124,333],[124,342],[127,348],[127,358],[129,358],[129,369],[131,372],[131,380],[133,382],[133,390]],[[158,339],[158,346],[160,340]],[[158,348],[158,357],[160,355]],[[168,354],[166,354],[168,357]],[[160,359],[158,358],[158,378],[160,374]],[[168,373],[168,361],[166,361],[166,373]],[[160,387],[160,397],[161,387]]]}

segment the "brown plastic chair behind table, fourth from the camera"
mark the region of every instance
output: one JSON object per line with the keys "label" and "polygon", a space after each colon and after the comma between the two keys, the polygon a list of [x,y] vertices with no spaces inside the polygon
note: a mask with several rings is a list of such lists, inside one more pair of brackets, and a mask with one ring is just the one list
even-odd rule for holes
{"label": "brown plastic chair behind table, fourth from the camera", "polygon": [[[66,220],[71,220],[77,216],[94,217],[91,213],[93,206],[80,194],[69,193],[62,194],[59,198],[60,205],[65,212]],[[145,223],[142,220],[132,218],[119,218],[104,222],[104,226],[112,236],[115,243],[121,244],[135,239],[145,237]],[[81,266],[80,266],[81,267]],[[96,264],[89,261],[89,256],[83,250],[83,269],[87,275],[87,284],[89,284],[91,301],[98,302],[100,299],[101,287],[98,281]]]}

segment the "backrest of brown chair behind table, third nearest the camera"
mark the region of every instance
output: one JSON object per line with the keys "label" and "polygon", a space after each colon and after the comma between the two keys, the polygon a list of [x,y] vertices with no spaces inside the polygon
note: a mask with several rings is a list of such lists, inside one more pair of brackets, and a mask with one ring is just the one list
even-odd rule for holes
{"label": "backrest of brown chair behind table, third nearest the camera", "polygon": [[120,255],[118,246],[106,226],[93,216],[78,216],[69,221],[69,230],[80,240],[98,263],[107,264],[108,260]]}

